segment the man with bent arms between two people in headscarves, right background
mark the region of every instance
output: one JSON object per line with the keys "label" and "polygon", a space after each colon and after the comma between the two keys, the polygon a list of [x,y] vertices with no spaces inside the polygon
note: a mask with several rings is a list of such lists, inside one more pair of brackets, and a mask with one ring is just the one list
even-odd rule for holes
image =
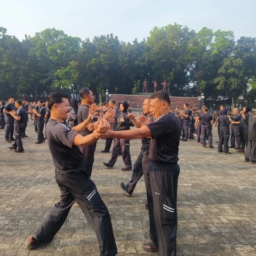
{"label": "man with bent arms between two people in headscarves, right background", "polygon": [[230,125],[230,148],[240,149],[241,140],[239,135],[239,124],[240,124],[241,115],[239,115],[238,109],[233,109],[233,115],[229,116]]}

